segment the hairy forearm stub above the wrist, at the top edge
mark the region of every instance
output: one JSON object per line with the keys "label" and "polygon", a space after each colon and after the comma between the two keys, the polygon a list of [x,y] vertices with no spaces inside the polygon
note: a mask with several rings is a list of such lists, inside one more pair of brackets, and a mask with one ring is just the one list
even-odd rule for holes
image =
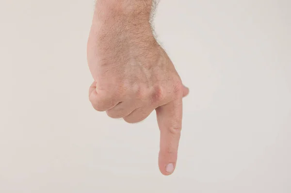
{"label": "hairy forearm stub above the wrist, at the top edge", "polygon": [[98,38],[99,41],[114,41],[116,44],[124,38],[155,42],[150,22],[155,2],[156,0],[97,0],[91,37]]}

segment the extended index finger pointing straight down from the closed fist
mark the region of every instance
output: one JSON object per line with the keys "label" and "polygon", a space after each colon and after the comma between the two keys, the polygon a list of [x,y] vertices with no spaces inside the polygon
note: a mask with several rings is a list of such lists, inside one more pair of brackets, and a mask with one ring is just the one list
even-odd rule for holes
{"label": "extended index finger pointing straight down from the closed fist", "polygon": [[161,131],[159,168],[171,175],[176,167],[182,127],[182,97],[156,109]]}

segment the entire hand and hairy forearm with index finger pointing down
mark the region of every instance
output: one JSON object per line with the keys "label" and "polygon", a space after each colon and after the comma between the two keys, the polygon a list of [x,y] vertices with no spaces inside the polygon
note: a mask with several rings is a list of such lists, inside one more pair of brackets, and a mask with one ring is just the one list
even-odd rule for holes
{"label": "entire hand and hairy forearm with index finger pointing down", "polygon": [[[87,57],[93,107],[138,123],[156,110],[161,131],[159,168],[174,172],[182,127],[182,97],[189,90],[150,25],[151,0],[97,0]],[[170,164],[170,165],[169,165]]]}

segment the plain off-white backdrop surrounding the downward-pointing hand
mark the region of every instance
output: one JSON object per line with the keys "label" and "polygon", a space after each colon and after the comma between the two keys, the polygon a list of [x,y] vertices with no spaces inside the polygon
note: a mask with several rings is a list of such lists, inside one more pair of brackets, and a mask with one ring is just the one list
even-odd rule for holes
{"label": "plain off-white backdrop surrounding the downward-pointing hand", "polygon": [[98,113],[93,0],[0,0],[0,193],[291,193],[291,1],[161,0],[155,29],[184,84],[177,170],[155,113]]}

